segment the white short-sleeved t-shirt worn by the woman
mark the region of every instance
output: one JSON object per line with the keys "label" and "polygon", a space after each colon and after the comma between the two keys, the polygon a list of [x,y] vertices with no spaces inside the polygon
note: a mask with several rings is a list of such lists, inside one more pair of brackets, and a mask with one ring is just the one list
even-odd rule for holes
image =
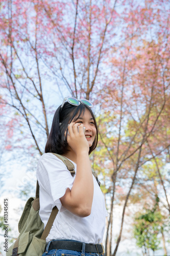
{"label": "white short-sleeved t-shirt worn by the woman", "polygon": [[[72,163],[76,171],[76,163]],[[72,177],[66,165],[52,153],[46,153],[40,157],[37,180],[40,186],[39,215],[44,227],[53,207],[56,205],[59,209],[46,242],[52,239],[69,239],[92,244],[102,243],[108,214],[104,196],[94,177],[93,202],[91,214],[88,217],[78,217],[61,204],[60,198],[64,196],[67,188],[71,189],[74,179],[75,175]]]}

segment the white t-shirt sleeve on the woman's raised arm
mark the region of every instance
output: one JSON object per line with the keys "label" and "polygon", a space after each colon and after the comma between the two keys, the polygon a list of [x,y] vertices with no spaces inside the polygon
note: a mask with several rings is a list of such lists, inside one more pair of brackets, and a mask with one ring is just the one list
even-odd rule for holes
{"label": "white t-shirt sleeve on the woman's raised arm", "polygon": [[60,201],[67,188],[71,190],[74,178],[66,165],[52,153],[41,156],[38,162],[37,179],[42,188],[53,198],[60,211],[66,210]]}

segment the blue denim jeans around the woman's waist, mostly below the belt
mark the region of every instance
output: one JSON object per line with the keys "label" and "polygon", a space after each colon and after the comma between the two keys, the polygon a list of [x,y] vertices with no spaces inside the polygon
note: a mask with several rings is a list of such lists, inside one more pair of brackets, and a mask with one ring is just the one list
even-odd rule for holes
{"label": "blue denim jeans around the woman's waist, mostly below the belt", "polygon": [[[56,241],[56,240],[53,240],[53,241]],[[98,253],[94,253],[94,252],[85,252],[85,243],[83,243],[82,251],[72,251],[72,250],[62,250],[62,249],[48,250],[50,243],[51,241],[47,243],[46,250],[42,254],[42,256],[102,256],[104,255],[104,254],[99,255]]]}

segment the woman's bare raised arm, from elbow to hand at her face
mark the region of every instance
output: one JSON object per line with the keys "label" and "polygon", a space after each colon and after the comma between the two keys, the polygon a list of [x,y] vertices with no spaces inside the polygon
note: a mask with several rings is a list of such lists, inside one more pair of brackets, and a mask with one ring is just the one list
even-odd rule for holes
{"label": "woman's bare raised arm, from elbow to hand at her face", "polygon": [[67,142],[74,152],[77,161],[77,173],[71,190],[67,188],[60,198],[62,205],[79,217],[87,217],[91,213],[93,200],[93,177],[89,160],[89,145],[83,133],[83,124],[70,123]]}

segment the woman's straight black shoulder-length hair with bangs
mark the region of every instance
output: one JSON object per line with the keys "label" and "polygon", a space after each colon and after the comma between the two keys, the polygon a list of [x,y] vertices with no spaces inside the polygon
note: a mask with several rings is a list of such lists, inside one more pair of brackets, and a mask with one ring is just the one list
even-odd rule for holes
{"label": "woman's straight black shoulder-length hair with bangs", "polygon": [[96,124],[92,110],[83,103],[80,103],[79,106],[75,106],[66,102],[64,103],[63,108],[61,109],[60,105],[59,108],[56,110],[56,113],[54,114],[51,132],[45,145],[45,153],[56,153],[62,155],[67,152],[68,143],[64,133],[65,131],[68,131],[68,124],[75,118],[76,115],[78,115],[76,120],[78,120],[82,114],[84,115],[85,109],[88,109],[90,111],[96,128],[95,139],[93,141],[93,144],[89,148],[89,154],[94,150],[94,148],[98,144],[98,126]]}

